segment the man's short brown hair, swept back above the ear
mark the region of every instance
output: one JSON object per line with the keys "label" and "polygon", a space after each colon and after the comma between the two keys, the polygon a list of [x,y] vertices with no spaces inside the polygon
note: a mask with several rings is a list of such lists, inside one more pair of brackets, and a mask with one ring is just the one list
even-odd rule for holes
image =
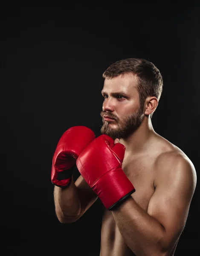
{"label": "man's short brown hair, swept back above the ear", "polygon": [[[121,74],[131,73],[138,78],[137,90],[140,105],[144,106],[148,96],[160,99],[163,80],[158,68],[150,61],[141,58],[127,58],[116,61],[103,73],[103,78],[112,79]],[[153,113],[151,113],[152,117]]]}

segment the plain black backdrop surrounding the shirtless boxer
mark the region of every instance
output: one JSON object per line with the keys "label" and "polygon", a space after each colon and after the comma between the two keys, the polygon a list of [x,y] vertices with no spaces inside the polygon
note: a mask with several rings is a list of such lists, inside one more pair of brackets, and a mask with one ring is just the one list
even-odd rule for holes
{"label": "plain black backdrop surrounding the shirtless boxer", "polygon": [[[2,248],[5,255],[99,256],[99,200],[75,223],[55,216],[55,147],[75,125],[99,136],[102,73],[119,59],[145,58],[164,80],[154,130],[188,155],[198,179],[200,5],[10,7],[0,10]],[[197,181],[177,256],[200,253],[199,194]]]}

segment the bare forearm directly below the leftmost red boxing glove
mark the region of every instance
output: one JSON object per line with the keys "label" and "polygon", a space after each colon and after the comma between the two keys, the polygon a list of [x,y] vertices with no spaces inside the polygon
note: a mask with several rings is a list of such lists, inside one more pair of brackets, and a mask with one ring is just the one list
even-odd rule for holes
{"label": "bare forearm directly below the leftmost red boxing glove", "polygon": [[78,218],[81,211],[81,204],[72,179],[67,188],[54,187],[55,212],[58,220],[62,223],[73,222]]}

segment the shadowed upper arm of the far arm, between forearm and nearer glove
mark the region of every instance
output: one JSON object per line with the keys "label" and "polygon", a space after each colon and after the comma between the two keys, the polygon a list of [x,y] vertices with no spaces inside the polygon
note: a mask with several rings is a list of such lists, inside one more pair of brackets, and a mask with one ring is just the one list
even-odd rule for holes
{"label": "shadowed upper arm of the far arm, between forearm and nearer glove", "polygon": [[78,189],[78,195],[81,202],[81,215],[90,208],[90,206],[96,201],[98,196],[93,192],[84,178],[80,175],[75,181],[75,186]]}

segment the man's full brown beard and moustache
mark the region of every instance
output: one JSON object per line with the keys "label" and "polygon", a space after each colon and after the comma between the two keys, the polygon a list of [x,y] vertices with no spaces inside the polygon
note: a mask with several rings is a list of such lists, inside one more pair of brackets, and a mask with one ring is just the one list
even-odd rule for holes
{"label": "man's full brown beard and moustache", "polygon": [[[101,117],[103,125],[101,127],[101,134],[106,134],[113,138],[115,140],[127,138],[130,134],[132,134],[136,129],[140,126],[144,114],[143,114],[143,108],[139,108],[139,110],[136,113],[131,113],[119,120],[116,116],[114,116],[111,112],[107,111],[101,111]],[[118,125],[117,128],[111,128],[109,121],[104,121],[103,116],[106,115],[107,117],[110,117],[112,119],[116,120],[116,123]]]}

